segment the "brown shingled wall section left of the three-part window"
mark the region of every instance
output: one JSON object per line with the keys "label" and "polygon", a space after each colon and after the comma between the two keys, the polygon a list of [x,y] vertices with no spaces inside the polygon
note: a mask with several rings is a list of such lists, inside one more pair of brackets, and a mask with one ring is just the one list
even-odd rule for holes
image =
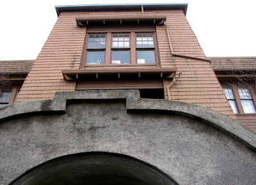
{"label": "brown shingled wall section left of the three-part window", "polygon": [[58,91],[75,90],[76,82],[66,82],[61,73],[79,69],[86,28],[77,27],[75,17],[61,13],[15,103],[52,99]]}

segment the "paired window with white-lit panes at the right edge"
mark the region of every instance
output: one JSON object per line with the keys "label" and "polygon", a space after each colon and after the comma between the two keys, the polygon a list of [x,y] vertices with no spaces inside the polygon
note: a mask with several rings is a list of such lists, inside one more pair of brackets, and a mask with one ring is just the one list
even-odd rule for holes
{"label": "paired window with white-lit panes at the right edge", "polygon": [[223,87],[227,100],[235,114],[256,113],[252,93],[246,87]]}

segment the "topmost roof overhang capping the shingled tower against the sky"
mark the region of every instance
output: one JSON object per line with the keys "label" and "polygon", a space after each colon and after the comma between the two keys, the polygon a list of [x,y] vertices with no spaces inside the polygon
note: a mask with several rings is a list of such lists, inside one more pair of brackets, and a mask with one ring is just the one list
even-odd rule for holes
{"label": "topmost roof overhang capping the shingled tower against the sky", "polygon": [[61,5],[55,6],[57,15],[65,11],[134,11],[141,10],[183,10],[187,13],[188,3],[160,3],[160,4],[86,4],[86,5]]}

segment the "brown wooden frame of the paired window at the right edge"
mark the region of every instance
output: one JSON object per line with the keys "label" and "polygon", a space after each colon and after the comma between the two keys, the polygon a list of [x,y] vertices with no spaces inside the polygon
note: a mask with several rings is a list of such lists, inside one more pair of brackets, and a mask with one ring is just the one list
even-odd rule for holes
{"label": "brown wooden frame of the paired window at the right edge", "polygon": [[234,98],[235,98],[234,100],[236,102],[236,108],[237,108],[237,111],[238,111],[237,114],[246,114],[246,115],[256,114],[256,113],[244,113],[243,105],[241,103],[241,100],[252,100],[253,107],[256,110],[256,107],[255,107],[255,93],[253,93],[250,88],[247,88],[247,89],[249,89],[250,95],[252,96],[252,99],[241,99],[240,95],[239,95],[239,92],[238,92],[238,89],[239,88],[244,88],[244,87],[239,87],[237,85],[223,85],[223,87],[230,87],[232,89],[232,92],[233,92],[233,95],[234,95]]}

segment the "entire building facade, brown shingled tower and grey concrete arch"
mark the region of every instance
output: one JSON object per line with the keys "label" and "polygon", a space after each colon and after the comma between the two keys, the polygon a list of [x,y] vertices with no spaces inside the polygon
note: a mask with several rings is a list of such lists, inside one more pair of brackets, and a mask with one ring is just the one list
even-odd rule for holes
{"label": "entire building facade, brown shingled tower and grey concrete arch", "polygon": [[[137,177],[136,172],[131,172],[131,163],[129,169],[122,168],[124,174],[118,174],[118,165],[108,164],[116,173],[115,182],[119,181],[118,175],[126,173],[132,181],[140,179],[141,184],[156,184],[150,174],[159,172],[156,182],[162,184],[218,184],[218,178],[223,183],[240,183],[243,173],[239,174],[236,166],[243,166],[241,169],[247,173],[242,178],[244,182],[255,182],[252,172],[256,168],[253,162],[256,137],[251,130],[256,129],[255,86],[249,88],[246,84],[255,82],[256,59],[207,58],[186,20],[187,8],[186,3],[56,6],[58,20],[36,60],[19,65],[14,65],[19,61],[13,61],[16,71],[8,67],[10,61],[1,62],[6,64],[4,73],[15,71],[16,76],[9,79],[19,81],[13,83],[13,90],[12,87],[1,90],[2,107],[8,103],[6,97],[12,97],[9,105],[14,103],[0,112],[0,119],[4,121],[2,136],[12,142],[21,140],[24,147],[17,147],[15,153],[22,155],[31,151],[24,154],[31,159],[25,170],[17,168],[6,175],[12,167],[1,162],[6,175],[0,179],[3,184],[36,184],[40,182],[36,179],[44,175],[53,182],[56,175],[51,172],[56,172],[52,167],[58,166],[56,160],[67,162],[69,159],[62,158],[65,155],[89,152],[90,156],[90,152],[95,151],[101,153],[93,156],[104,162],[104,152],[109,152],[107,158],[113,159],[113,164],[122,161],[125,165],[124,156],[113,157],[118,153],[131,156],[131,161],[136,158],[156,167],[148,167],[147,171],[141,165],[141,171],[147,175]],[[26,70],[19,71],[23,64]],[[65,93],[60,93],[63,91]],[[125,105],[120,103],[124,100]],[[121,110],[127,112],[121,113]],[[64,112],[68,113],[62,115]],[[19,129],[18,133],[15,128],[8,129],[9,124],[23,128],[22,122],[28,122],[26,129]],[[129,123],[131,128],[124,123]],[[12,132],[14,139],[8,137]],[[38,136],[38,133],[42,134]],[[28,137],[23,140],[21,135]],[[12,142],[3,143],[6,149],[1,154],[3,158],[11,161],[11,165],[28,163],[26,159],[6,157],[17,145]],[[237,154],[232,156],[234,150]],[[198,151],[201,153],[196,154]],[[88,163],[86,155],[80,156],[84,163]],[[227,156],[232,157],[227,159]],[[236,162],[230,165],[232,161]],[[44,165],[51,166],[52,171],[44,170],[47,168]],[[65,172],[62,167],[59,174]],[[32,168],[34,171],[29,171]],[[97,176],[97,169],[88,173]],[[205,170],[209,170],[209,174],[205,174]],[[84,181],[82,178],[77,183]]]}

